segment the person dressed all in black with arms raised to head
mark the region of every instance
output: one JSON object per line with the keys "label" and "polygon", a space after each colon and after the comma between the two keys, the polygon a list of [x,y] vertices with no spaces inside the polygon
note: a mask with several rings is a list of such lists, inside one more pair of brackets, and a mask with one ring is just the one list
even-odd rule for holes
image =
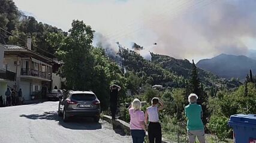
{"label": "person dressed all in black with arms raised to head", "polygon": [[112,120],[116,119],[116,108],[118,106],[118,92],[121,87],[118,85],[111,85],[110,87],[110,110],[112,114]]}

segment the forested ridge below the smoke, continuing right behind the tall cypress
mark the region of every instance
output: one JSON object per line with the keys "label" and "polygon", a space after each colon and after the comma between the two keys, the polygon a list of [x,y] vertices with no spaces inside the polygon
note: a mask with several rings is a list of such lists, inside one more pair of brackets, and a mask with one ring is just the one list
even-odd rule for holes
{"label": "forested ridge below the smoke, continuing right behind the tall cypress", "polygon": [[[185,88],[191,77],[192,63],[188,60],[179,60],[167,55],[153,54],[152,61],[145,60],[137,52],[122,49],[119,55],[123,59],[126,70],[134,71],[141,78],[141,83],[150,85],[163,85],[172,88]],[[222,79],[208,71],[198,69],[198,76],[203,85],[216,88],[236,88],[240,82]]]}

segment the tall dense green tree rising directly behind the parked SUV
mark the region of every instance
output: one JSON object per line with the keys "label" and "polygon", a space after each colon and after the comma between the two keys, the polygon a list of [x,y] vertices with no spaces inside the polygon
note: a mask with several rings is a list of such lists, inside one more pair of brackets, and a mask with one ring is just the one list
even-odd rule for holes
{"label": "tall dense green tree rising directly behind the parked SUV", "polygon": [[83,21],[74,20],[67,38],[59,46],[57,55],[64,61],[62,74],[67,79],[67,85],[73,89],[89,90],[92,88],[94,58],[90,51],[94,31]]}

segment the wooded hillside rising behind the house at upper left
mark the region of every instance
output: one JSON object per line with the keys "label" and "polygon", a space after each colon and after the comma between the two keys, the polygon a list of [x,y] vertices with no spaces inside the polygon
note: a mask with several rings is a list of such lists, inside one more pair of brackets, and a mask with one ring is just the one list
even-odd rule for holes
{"label": "wooded hillside rising behind the house at upper left", "polygon": [[32,50],[48,57],[54,57],[52,54],[56,51],[55,47],[47,42],[49,33],[67,35],[57,27],[38,22],[34,17],[23,14],[11,0],[0,1],[0,27],[1,43],[26,46],[27,38],[31,37]]}

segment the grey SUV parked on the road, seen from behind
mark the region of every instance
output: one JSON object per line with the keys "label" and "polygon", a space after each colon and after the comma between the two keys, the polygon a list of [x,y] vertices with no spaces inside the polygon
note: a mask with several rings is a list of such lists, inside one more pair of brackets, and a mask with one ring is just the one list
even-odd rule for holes
{"label": "grey SUV parked on the road, seen from behind", "polygon": [[100,120],[100,100],[92,91],[68,91],[59,101],[59,116],[64,122],[70,117],[93,117],[95,122]]}

